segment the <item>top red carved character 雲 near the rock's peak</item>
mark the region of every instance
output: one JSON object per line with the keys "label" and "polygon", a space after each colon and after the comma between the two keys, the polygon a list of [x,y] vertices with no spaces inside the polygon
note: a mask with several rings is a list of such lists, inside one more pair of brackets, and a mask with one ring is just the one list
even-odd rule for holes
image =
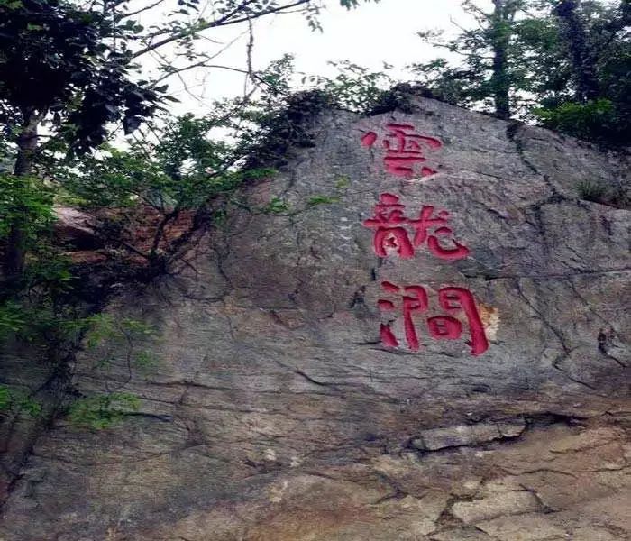
{"label": "top red carved character \u96f2 near the rock's peak", "polygon": [[[423,155],[423,145],[430,150],[436,150],[443,143],[434,137],[427,137],[415,133],[411,124],[388,124],[388,135],[383,140],[386,156],[383,159],[386,170],[398,177],[409,179],[414,175],[416,162],[422,163],[427,159]],[[361,138],[361,144],[371,147],[377,141],[377,133],[369,132]],[[421,177],[430,177],[437,171],[423,167]]]}

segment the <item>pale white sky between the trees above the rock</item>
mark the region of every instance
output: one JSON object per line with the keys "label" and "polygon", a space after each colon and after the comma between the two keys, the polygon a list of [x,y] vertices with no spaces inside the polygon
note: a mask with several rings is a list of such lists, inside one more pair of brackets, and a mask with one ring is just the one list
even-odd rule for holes
{"label": "pale white sky between the trees above the rock", "polygon": [[[320,15],[323,32],[312,32],[302,14],[277,14],[257,20],[253,68],[264,69],[270,61],[291,53],[297,72],[309,75],[334,76],[335,69],[327,61],[350,60],[374,70],[382,70],[387,62],[395,67],[392,74],[396,78],[407,79],[404,66],[431,60],[438,53],[423,43],[416,32],[429,29],[455,32],[450,18],[469,23],[462,12],[461,0],[381,0],[351,11],[341,7],[339,0],[326,0],[325,5]],[[214,29],[205,35],[214,41],[204,41],[202,46],[208,50],[221,50],[235,40],[214,62],[246,68],[246,25]],[[242,75],[225,69],[190,70],[182,78],[189,92],[177,77],[169,78],[169,88],[181,102],[174,106],[180,113],[203,114],[214,99],[243,93]]]}

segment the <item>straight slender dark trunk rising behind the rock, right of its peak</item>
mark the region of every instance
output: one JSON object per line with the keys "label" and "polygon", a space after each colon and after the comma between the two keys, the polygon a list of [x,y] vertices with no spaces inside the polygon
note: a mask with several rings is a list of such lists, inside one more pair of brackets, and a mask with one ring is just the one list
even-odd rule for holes
{"label": "straight slender dark trunk rising behind the rock, right of its peak", "polygon": [[495,113],[499,118],[510,118],[510,78],[508,76],[508,47],[510,46],[510,23],[516,6],[510,0],[493,0],[495,11],[492,17],[491,47],[493,49],[493,75],[491,87]]}

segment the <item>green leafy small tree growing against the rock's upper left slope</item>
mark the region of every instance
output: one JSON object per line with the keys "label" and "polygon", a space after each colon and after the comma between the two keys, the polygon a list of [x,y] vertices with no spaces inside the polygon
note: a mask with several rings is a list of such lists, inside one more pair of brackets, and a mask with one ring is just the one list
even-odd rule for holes
{"label": "green leafy small tree growing against the rock's upper left slope", "polygon": [[[231,197],[244,180],[274,173],[239,167],[245,148],[210,137],[212,129],[229,125],[221,112],[148,124],[151,136],[137,137],[124,150],[105,144],[97,157],[64,164],[60,188],[86,210],[113,209],[113,218],[101,216],[96,234],[106,246],[122,248],[123,261],[140,258],[139,271],[151,279],[178,260],[177,245],[165,237],[180,215],[195,215],[210,201]],[[134,238],[138,217],[149,219],[142,227],[146,239]],[[193,218],[182,233],[191,233],[200,225],[196,222]]]}

